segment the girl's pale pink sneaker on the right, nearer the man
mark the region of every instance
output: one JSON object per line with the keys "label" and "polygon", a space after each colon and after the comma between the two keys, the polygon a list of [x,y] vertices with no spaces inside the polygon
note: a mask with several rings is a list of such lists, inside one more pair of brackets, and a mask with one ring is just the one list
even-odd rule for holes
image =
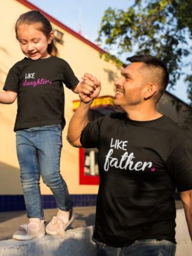
{"label": "girl's pale pink sneaker on the right, nearer the man", "polygon": [[46,233],[52,236],[65,236],[66,228],[72,223],[76,214],[74,211],[61,211],[59,209],[58,214],[52,217],[52,220],[46,226]]}

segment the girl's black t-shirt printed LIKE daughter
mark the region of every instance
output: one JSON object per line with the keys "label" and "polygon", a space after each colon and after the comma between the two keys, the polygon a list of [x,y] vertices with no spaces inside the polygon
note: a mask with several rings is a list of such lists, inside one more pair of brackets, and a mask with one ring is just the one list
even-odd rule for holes
{"label": "girl's black t-shirt printed LIKE daughter", "polygon": [[14,131],[51,124],[64,127],[63,83],[74,89],[79,81],[61,58],[24,58],[13,65],[3,89],[18,93]]}

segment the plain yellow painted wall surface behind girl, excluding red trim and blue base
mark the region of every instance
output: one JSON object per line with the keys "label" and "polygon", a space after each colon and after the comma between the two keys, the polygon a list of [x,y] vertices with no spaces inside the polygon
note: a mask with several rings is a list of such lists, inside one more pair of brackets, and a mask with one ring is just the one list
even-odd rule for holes
{"label": "plain yellow painted wall surface behind girl, excluding red trim and blue base", "polygon": [[[1,1],[0,15],[0,90],[3,88],[8,70],[14,63],[24,58],[15,38],[15,21],[21,13],[28,12],[29,8],[15,0]],[[112,63],[100,59],[99,52],[85,44],[67,31],[63,31],[56,24],[54,29],[64,33],[64,44],[58,44],[60,58],[64,58],[73,68],[76,76],[81,79],[84,72],[90,72],[102,81],[100,95],[113,95],[113,81],[111,76],[117,76],[119,70]],[[118,73],[117,73],[118,72]],[[65,117],[67,124],[72,116],[72,100],[78,96],[65,88]],[[17,102],[11,105],[0,106],[0,195],[22,194],[19,178],[19,164],[15,150],[15,132],[13,126],[17,113]],[[67,182],[72,194],[94,194],[98,186],[79,185],[79,150],[72,148],[66,141],[67,126],[63,131],[63,150],[61,153],[61,175]],[[42,194],[51,194],[41,182]]]}

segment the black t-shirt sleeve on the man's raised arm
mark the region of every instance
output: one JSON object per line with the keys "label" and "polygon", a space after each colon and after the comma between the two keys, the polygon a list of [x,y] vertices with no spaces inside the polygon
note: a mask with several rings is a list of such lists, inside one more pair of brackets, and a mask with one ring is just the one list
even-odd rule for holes
{"label": "black t-shirt sleeve on the man's raised arm", "polygon": [[88,123],[81,133],[81,145],[84,148],[98,148],[99,147],[99,138],[100,138],[100,124],[102,118],[94,120],[93,122]]}

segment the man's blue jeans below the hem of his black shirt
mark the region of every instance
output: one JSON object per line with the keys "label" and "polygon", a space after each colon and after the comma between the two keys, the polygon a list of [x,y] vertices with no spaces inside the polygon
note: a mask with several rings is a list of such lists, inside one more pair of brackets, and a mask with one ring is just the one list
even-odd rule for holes
{"label": "man's blue jeans below the hem of his black shirt", "polygon": [[175,244],[156,239],[136,240],[129,246],[116,248],[96,243],[97,256],[175,256]]}

